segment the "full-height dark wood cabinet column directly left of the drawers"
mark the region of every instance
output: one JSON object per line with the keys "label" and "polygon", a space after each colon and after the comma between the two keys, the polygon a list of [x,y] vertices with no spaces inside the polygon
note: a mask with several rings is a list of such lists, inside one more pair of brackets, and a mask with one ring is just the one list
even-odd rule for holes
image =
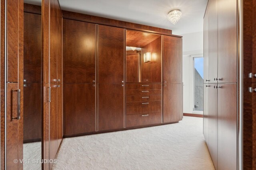
{"label": "full-height dark wood cabinet column directly left of the drawers", "polygon": [[98,130],[124,127],[124,29],[98,26]]}

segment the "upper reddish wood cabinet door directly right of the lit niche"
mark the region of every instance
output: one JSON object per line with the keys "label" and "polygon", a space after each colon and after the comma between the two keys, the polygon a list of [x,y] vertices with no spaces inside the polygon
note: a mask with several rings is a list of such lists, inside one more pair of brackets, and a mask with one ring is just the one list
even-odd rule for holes
{"label": "upper reddish wood cabinet door directly right of the lit niche", "polygon": [[182,82],[182,39],[163,35],[163,81]]}

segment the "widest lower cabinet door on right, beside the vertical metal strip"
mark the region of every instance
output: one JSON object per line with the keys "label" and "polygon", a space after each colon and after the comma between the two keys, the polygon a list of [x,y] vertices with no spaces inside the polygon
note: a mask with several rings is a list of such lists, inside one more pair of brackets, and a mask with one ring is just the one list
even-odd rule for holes
{"label": "widest lower cabinet door on right, beside the vertical metal strip", "polygon": [[237,168],[237,84],[218,84],[218,87],[218,169],[234,170]]}

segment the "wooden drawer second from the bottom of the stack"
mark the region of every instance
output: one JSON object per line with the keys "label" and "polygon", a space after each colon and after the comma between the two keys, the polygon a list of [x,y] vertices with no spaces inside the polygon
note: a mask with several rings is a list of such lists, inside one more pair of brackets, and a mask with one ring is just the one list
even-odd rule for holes
{"label": "wooden drawer second from the bottom of the stack", "polygon": [[161,112],[161,101],[126,103],[126,115],[154,112]]}

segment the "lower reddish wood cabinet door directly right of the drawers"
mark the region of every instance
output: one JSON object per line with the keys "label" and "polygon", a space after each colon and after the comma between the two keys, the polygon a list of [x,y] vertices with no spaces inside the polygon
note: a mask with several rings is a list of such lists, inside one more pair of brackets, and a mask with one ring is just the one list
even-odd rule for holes
{"label": "lower reddish wood cabinet door directly right of the drawers", "polygon": [[182,84],[164,84],[164,123],[180,121],[182,117]]}

